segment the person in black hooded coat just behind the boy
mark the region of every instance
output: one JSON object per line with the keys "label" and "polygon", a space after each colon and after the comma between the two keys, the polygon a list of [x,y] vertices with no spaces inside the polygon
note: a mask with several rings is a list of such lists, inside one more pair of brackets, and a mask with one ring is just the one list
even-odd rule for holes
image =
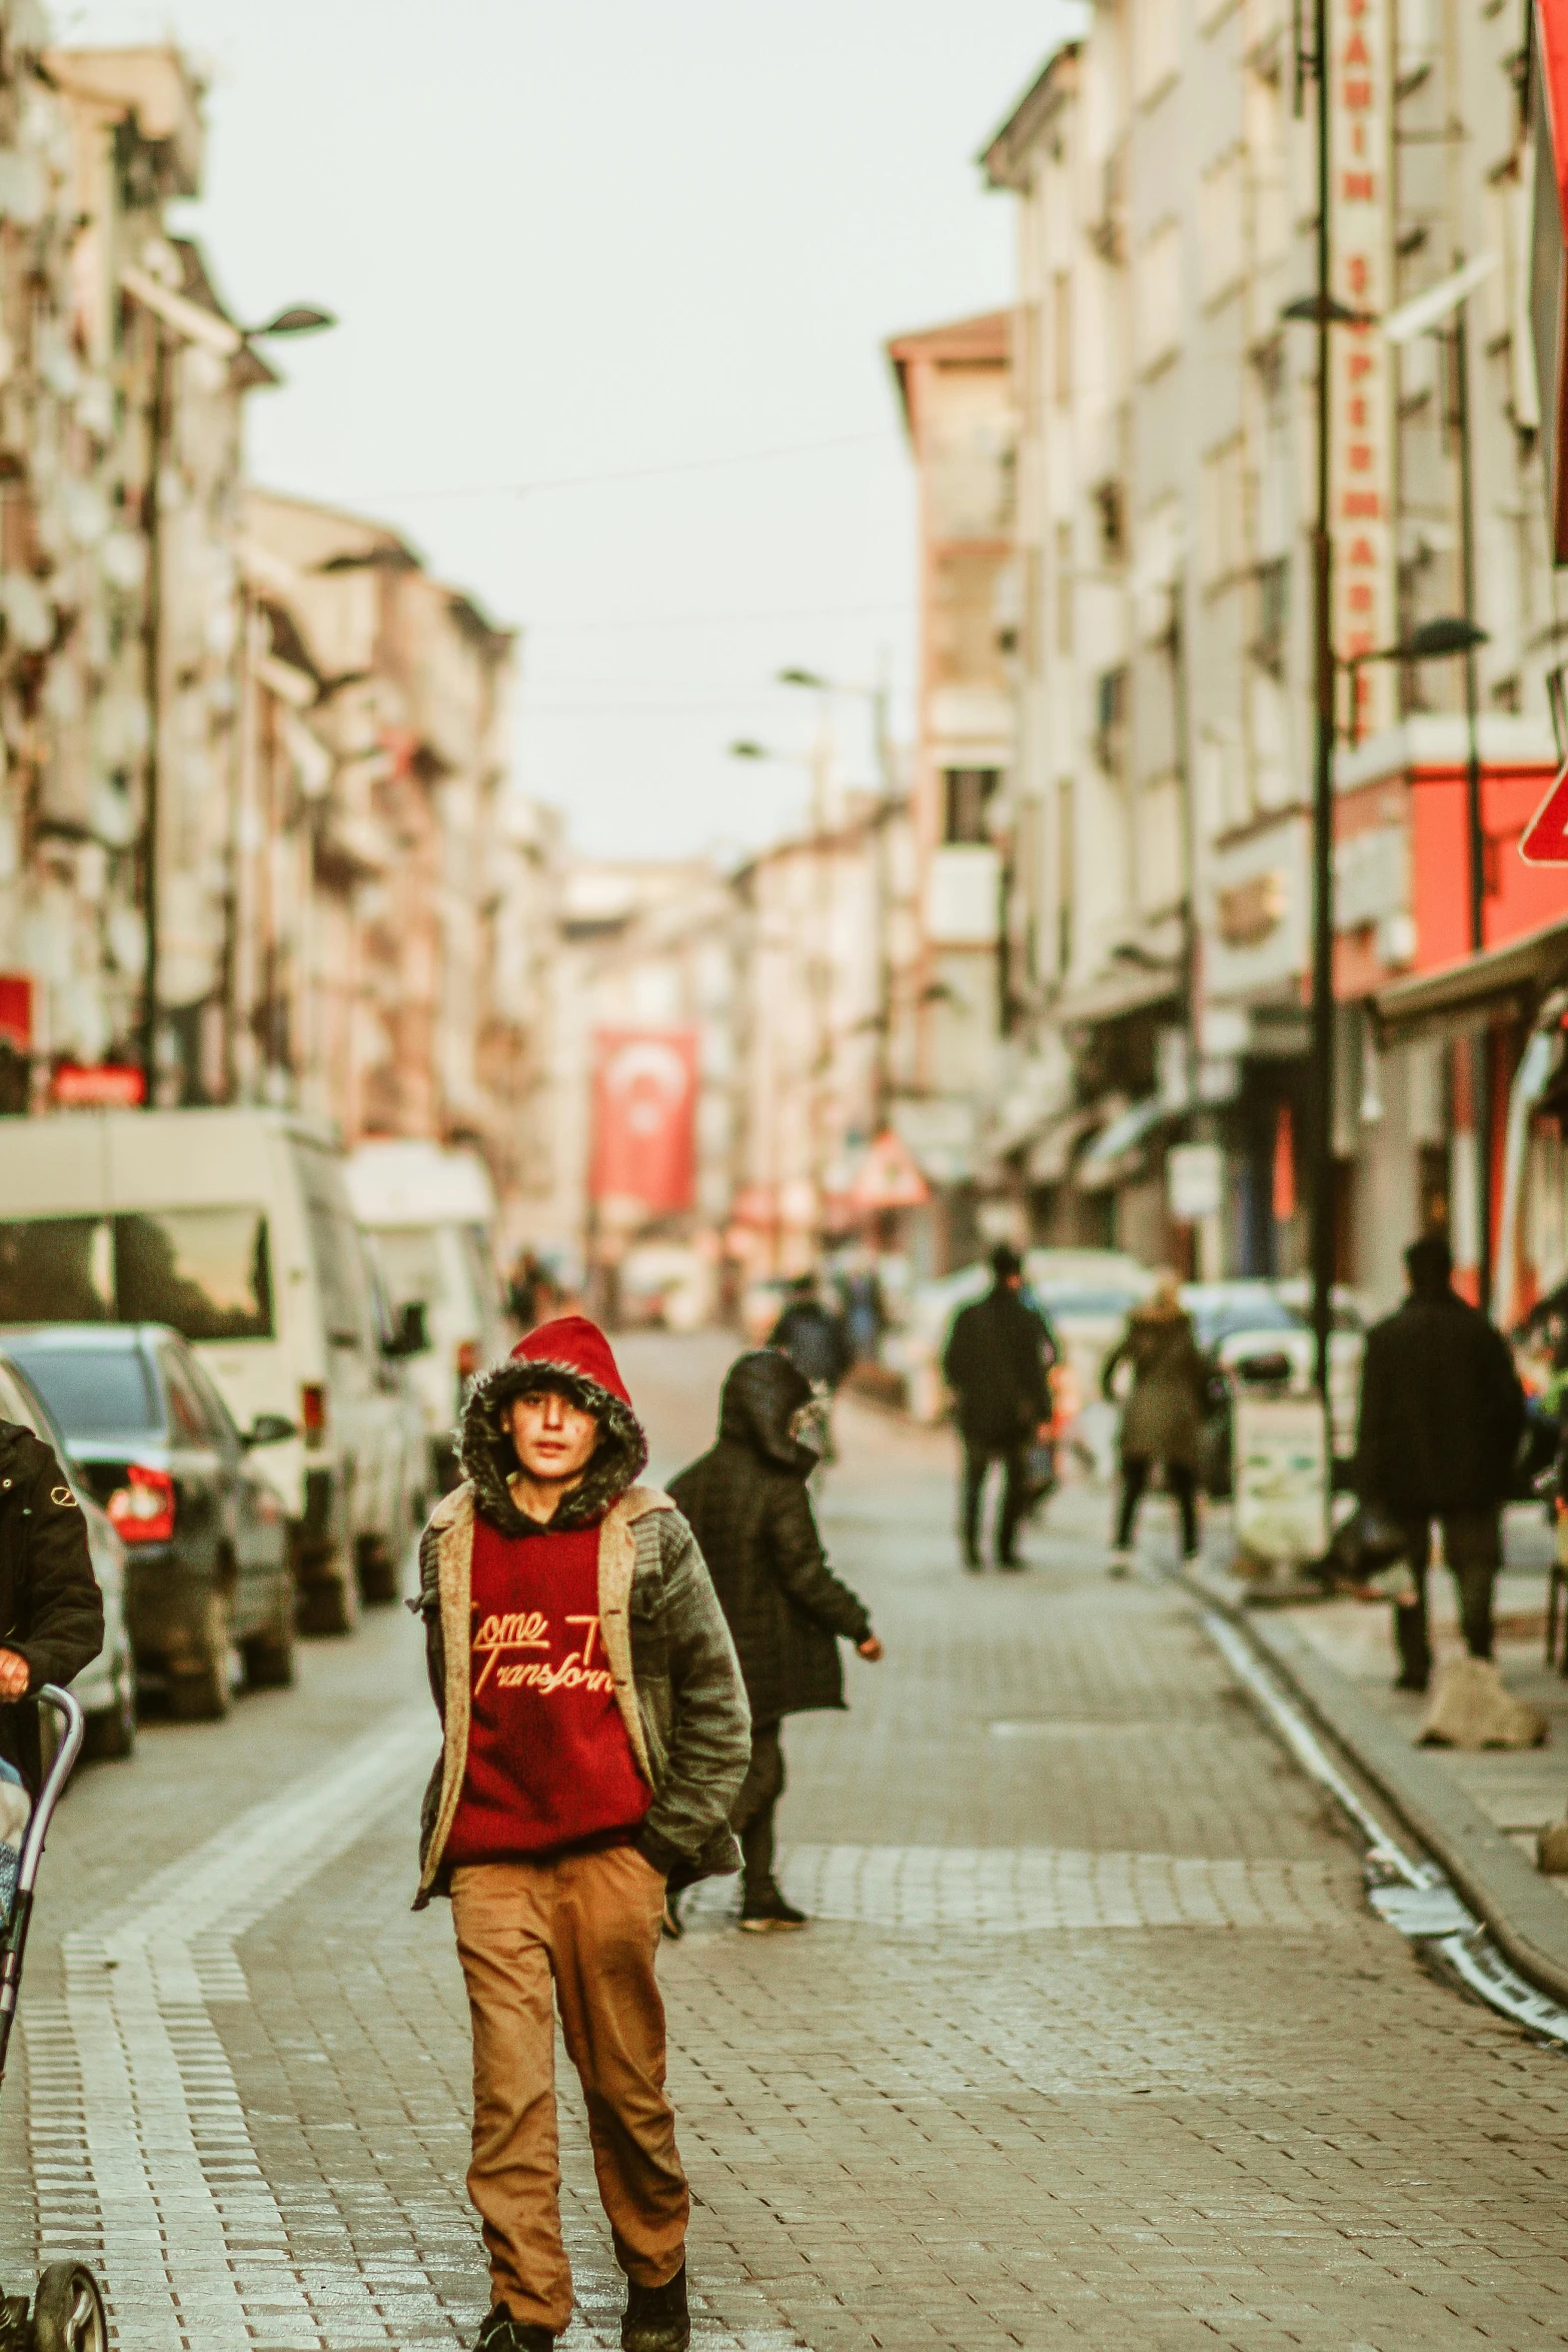
{"label": "person in black hooded coat just behind the boy", "polygon": [[[865,1602],[832,1573],[816,1531],[806,1494],[816,1449],[795,1435],[809,1406],[811,1381],[785,1355],[757,1348],[738,1357],[719,1397],[717,1444],[670,1479],[708,1562],[752,1708],[752,1762],[729,1816],[745,1870],[741,1926],[752,1936],[806,1924],[773,1879],[783,1717],[844,1705],[839,1639],[853,1642],[863,1658],[882,1656]],[[668,1917],[679,1933],[675,1903]]]}

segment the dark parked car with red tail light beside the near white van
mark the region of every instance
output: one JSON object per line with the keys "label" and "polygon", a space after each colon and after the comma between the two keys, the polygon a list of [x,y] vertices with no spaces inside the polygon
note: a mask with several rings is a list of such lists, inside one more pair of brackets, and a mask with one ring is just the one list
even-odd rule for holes
{"label": "dark parked car with red tail light beside the near white van", "polygon": [[240,1437],[167,1324],[47,1324],[2,1345],[125,1545],[136,1675],[188,1719],[228,1715],[235,1649],[254,1689],[294,1682],[289,1531],[252,1468],[292,1425],[263,1414]]}

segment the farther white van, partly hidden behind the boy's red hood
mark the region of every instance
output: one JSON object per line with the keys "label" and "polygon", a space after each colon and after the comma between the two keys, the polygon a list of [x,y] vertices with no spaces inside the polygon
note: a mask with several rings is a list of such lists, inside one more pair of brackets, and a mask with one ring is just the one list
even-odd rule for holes
{"label": "farther white van, partly hidden behind the boy's red hood", "polygon": [[430,1475],[447,1489],[456,1479],[454,1425],[468,1381],[510,1345],[489,1169],[477,1152],[388,1138],[360,1143],[346,1176],[393,1315],[425,1310],[430,1345],[409,1357],[409,1374],[425,1411]]}

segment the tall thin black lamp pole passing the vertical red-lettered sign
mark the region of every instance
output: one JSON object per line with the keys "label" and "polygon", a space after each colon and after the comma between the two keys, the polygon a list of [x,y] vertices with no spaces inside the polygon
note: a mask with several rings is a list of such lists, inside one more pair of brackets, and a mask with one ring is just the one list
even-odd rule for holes
{"label": "tall thin black lamp pole passing the vertical red-lettered sign", "polygon": [[1316,741],[1312,771],[1312,1336],[1316,1385],[1328,1399],[1333,1324],[1333,546],[1328,482],[1328,0],[1316,0],[1316,527],[1312,626]]}

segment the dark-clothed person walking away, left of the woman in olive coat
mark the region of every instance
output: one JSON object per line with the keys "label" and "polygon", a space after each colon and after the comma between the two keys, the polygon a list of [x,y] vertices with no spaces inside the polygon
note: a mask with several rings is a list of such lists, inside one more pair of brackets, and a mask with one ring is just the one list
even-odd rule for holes
{"label": "dark-clothed person walking away, left of the woman in olive coat", "polygon": [[954,1315],[943,1374],[957,1395],[964,1439],[964,1566],[980,1569],[980,1505],[985,1472],[1001,1463],[997,1566],[1020,1569],[1018,1522],[1027,1491],[1030,1446],[1051,1432],[1051,1364],[1056,1334],[1023,1296],[1023,1258],[1006,1242],[992,1249],[992,1287]]}

